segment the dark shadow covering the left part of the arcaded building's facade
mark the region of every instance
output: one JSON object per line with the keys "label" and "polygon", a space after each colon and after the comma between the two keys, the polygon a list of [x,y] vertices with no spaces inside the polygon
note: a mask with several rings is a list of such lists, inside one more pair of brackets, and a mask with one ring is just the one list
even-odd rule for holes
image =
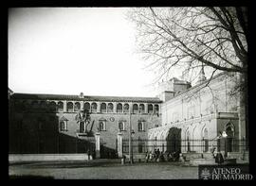
{"label": "dark shadow covering the left part of the arcaded building's facade", "polygon": [[9,108],[9,154],[86,153],[88,150],[93,153],[94,140],[60,132],[56,112],[20,110],[12,106]]}

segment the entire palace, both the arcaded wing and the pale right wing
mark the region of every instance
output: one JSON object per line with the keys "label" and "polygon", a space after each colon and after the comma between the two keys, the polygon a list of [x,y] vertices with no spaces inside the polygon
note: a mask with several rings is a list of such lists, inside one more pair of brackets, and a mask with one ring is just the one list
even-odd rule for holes
{"label": "entire palace, both the arcaded wing and the pale right wing", "polygon": [[85,152],[84,126],[75,120],[85,109],[91,116],[86,129],[101,133],[102,157],[104,152],[117,154],[118,134],[128,138],[129,125],[134,139],[153,143],[149,148],[210,152],[214,140],[226,134],[229,152],[241,151],[233,147],[235,140],[247,138],[239,94],[233,93],[238,81],[230,73],[209,81],[202,69],[195,86],[174,77],[159,83],[155,97],[10,93],[9,153]]}

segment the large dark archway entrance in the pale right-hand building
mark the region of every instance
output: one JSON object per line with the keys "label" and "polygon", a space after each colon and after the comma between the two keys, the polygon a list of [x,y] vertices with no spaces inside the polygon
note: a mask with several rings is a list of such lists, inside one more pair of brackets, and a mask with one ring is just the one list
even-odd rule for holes
{"label": "large dark archway entrance in the pale right-hand building", "polygon": [[181,152],[181,128],[171,127],[167,136],[167,151]]}

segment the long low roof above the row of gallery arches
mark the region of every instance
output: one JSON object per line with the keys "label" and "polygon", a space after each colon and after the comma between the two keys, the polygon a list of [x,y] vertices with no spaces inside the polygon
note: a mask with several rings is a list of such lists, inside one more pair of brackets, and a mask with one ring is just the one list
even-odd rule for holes
{"label": "long low roof above the row of gallery arches", "polygon": [[151,102],[161,103],[158,97],[126,97],[126,96],[98,96],[98,95],[69,95],[69,94],[40,94],[40,93],[13,93],[13,99],[34,100],[73,100],[73,101],[105,101],[105,102]]}

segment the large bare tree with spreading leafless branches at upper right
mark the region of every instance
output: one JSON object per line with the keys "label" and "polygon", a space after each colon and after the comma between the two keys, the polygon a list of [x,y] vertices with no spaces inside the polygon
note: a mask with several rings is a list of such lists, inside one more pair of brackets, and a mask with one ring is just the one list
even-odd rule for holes
{"label": "large bare tree with spreading leafless branches at upper right", "polygon": [[247,107],[247,8],[131,8],[128,15],[137,25],[138,50],[158,79],[177,68],[194,79],[202,65],[209,81],[216,72],[235,73],[234,92]]}

